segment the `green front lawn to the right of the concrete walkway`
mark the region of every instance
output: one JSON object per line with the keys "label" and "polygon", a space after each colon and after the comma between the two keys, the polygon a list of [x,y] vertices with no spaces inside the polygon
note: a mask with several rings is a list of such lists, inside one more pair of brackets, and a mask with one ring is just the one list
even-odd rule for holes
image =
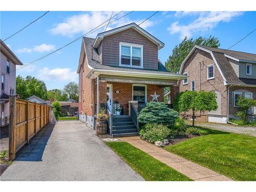
{"label": "green front lawn to the right of the concrete walkway", "polygon": [[256,137],[211,130],[165,150],[233,180],[256,181]]}

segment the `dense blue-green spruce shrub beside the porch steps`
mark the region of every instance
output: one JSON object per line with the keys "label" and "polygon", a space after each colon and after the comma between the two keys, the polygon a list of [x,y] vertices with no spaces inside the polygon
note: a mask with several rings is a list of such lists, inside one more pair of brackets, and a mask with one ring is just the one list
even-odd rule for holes
{"label": "dense blue-green spruce shrub beside the porch steps", "polygon": [[163,102],[148,102],[139,114],[138,121],[140,123],[162,123],[172,126],[175,119],[179,117],[179,113],[171,110]]}

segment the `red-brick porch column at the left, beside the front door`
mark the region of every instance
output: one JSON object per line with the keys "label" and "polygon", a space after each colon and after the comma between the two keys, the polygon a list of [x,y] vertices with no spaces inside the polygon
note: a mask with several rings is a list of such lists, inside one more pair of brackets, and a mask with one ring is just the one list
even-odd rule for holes
{"label": "red-brick porch column at the left, beside the front door", "polygon": [[105,110],[106,108],[106,81],[105,80],[99,80],[98,81],[98,106],[97,106],[97,112],[100,113],[102,110]]}

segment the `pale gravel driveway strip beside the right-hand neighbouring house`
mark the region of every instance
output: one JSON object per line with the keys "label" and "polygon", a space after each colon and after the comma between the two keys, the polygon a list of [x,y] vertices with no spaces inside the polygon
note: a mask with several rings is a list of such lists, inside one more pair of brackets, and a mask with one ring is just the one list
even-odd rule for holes
{"label": "pale gravel driveway strip beside the right-hand neighbouring house", "polygon": [[237,125],[217,124],[217,123],[216,124],[215,123],[195,123],[195,125],[203,126],[212,130],[251,135],[256,137],[256,127],[252,127],[252,126],[237,126]]}

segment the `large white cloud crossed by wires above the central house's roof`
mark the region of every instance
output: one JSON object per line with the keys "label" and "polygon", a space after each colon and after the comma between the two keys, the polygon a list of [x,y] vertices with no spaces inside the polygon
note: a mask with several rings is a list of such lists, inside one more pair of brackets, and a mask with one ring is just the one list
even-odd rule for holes
{"label": "large white cloud crossed by wires above the central house's roof", "polygon": [[[63,36],[70,36],[72,37],[74,34],[77,33],[87,33],[88,31],[92,30],[93,28],[97,27],[99,24],[105,22],[108,20],[111,16],[112,12],[90,12],[86,14],[79,14],[79,15],[73,15],[71,17],[68,17],[64,22],[56,24],[52,29],[50,29],[50,32],[52,34],[60,34]],[[118,12],[114,12],[113,15],[117,14]],[[119,18],[122,14],[120,13],[113,19],[111,19],[111,22],[117,18]],[[110,30],[116,27],[120,27],[122,25],[130,24],[130,23],[136,23],[139,24],[144,19],[136,19],[131,20],[127,16],[122,17],[115,22],[109,24],[108,28],[106,30]],[[106,25],[108,22],[104,23],[102,26]],[[146,20],[143,24],[140,25],[140,27],[146,29],[148,27],[151,27],[154,25],[154,22],[151,20]],[[101,26],[101,27],[102,27]],[[103,32],[105,30],[105,27],[103,27],[100,30],[97,30],[96,32],[90,34],[89,36],[95,37],[97,33]]]}

